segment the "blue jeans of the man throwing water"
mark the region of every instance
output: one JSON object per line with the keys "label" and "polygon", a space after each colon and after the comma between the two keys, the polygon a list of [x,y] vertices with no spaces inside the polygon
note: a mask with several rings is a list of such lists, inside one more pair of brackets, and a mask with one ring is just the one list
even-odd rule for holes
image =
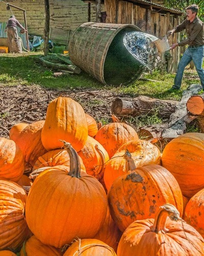
{"label": "blue jeans of the man throwing water", "polygon": [[204,70],[202,69],[202,61],[204,57],[204,46],[195,46],[188,47],[182,56],[179,66],[177,68],[177,73],[174,78],[174,86],[175,89],[180,89],[182,85],[182,77],[184,74],[184,69],[193,60],[196,71],[200,78],[202,89],[204,90]]}

